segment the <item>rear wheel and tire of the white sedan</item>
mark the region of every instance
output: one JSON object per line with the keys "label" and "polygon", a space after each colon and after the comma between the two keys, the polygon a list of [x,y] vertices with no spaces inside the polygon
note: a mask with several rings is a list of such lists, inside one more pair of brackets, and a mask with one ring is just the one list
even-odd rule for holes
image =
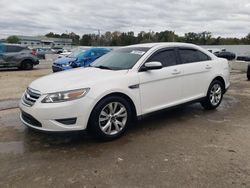
{"label": "rear wheel and tire of the white sedan", "polygon": [[223,99],[224,89],[221,81],[214,80],[208,88],[206,98],[201,102],[203,108],[206,110],[216,109]]}

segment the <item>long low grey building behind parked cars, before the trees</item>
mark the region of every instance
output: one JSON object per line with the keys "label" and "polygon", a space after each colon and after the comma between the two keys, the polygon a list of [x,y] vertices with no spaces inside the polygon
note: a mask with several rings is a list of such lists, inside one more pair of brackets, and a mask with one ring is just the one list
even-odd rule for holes
{"label": "long low grey building behind parked cars, before the trees", "polygon": [[71,48],[72,39],[67,38],[48,38],[45,36],[17,36],[19,44],[32,48],[35,47],[62,47]]}

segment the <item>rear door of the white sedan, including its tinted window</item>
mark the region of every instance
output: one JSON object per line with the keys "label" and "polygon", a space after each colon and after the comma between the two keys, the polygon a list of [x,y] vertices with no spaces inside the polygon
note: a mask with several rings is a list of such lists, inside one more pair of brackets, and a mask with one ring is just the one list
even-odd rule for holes
{"label": "rear door of the white sedan, including its tinted window", "polygon": [[182,102],[204,97],[211,80],[213,61],[205,53],[192,48],[178,48],[181,61]]}

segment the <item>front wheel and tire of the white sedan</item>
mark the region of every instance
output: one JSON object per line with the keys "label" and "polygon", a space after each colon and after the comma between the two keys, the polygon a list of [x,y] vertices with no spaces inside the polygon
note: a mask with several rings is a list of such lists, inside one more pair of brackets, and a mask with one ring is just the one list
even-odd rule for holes
{"label": "front wheel and tire of the white sedan", "polygon": [[97,139],[110,141],[121,137],[131,122],[129,102],[119,96],[109,96],[94,107],[88,128]]}

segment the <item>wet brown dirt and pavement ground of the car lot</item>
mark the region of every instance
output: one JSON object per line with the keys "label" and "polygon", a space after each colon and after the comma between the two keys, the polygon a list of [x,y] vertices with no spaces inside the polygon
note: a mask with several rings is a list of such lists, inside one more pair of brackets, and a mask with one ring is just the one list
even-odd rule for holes
{"label": "wet brown dirt and pavement ground of the car lot", "polygon": [[[0,187],[250,187],[250,82],[233,71],[222,105],[166,110],[122,138],[27,130],[16,104],[27,85],[51,73],[0,72]],[[1,106],[2,105],[2,106]]]}

